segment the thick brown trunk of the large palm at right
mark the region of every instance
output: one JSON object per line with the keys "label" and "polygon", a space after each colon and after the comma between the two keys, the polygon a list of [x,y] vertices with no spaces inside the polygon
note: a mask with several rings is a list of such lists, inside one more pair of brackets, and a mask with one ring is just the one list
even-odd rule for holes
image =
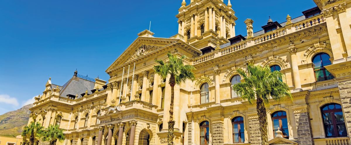
{"label": "thick brown trunk of the large palm at right", "polygon": [[256,109],[258,114],[258,120],[260,123],[260,132],[261,132],[261,145],[268,145],[268,135],[267,135],[267,114],[266,107],[261,96],[257,96]]}

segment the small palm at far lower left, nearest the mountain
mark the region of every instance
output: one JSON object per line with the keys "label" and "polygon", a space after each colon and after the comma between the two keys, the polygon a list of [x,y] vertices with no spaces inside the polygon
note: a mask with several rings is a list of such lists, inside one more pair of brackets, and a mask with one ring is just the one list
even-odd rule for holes
{"label": "small palm at far lower left, nearest the mountain", "polygon": [[40,137],[43,128],[39,122],[31,122],[31,124],[23,128],[21,135],[23,138],[28,139],[29,145],[33,145],[35,138]]}

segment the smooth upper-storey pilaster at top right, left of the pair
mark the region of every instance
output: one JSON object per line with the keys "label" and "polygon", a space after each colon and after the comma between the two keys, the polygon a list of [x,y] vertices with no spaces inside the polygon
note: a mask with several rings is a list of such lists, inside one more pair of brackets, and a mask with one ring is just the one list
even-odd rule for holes
{"label": "smooth upper-storey pilaster at top right, left of the pair", "polygon": [[[342,43],[339,41],[339,36],[336,31],[337,27],[335,25],[335,19],[333,18],[333,8],[325,9],[322,11],[328,27],[328,35],[330,39],[330,45],[333,52],[333,62],[343,61],[343,49],[341,47]],[[350,28],[350,26],[349,26]]]}

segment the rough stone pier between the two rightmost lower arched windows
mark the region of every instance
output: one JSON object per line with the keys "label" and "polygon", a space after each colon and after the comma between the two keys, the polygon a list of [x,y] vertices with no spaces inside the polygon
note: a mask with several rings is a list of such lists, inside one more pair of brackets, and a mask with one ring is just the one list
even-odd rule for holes
{"label": "rough stone pier between the two rightmost lower arched windows", "polygon": [[313,145],[312,128],[307,105],[292,106],[299,145]]}

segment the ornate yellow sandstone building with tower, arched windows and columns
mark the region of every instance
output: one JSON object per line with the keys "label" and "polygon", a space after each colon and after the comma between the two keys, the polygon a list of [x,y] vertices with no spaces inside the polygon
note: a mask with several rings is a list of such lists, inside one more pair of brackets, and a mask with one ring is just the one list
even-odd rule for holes
{"label": "ornate yellow sandstone building with tower, arched windows and columns", "polygon": [[152,68],[171,52],[197,69],[196,79],[175,86],[176,145],[260,144],[256,105],[231,90],[247,64],[282,72],[293,95],[266,106],[270,144],[350,145],[351,0],[314,2],[258,32],[246,19],[247,36],[236,36],[230,1],[183,1],[177,35],[140,32],[106,69],[108,83],[77,71],[62,86],[50,78],[28,123],[60,125],[67,139],[58,144],[164,145],[171,88]]}

